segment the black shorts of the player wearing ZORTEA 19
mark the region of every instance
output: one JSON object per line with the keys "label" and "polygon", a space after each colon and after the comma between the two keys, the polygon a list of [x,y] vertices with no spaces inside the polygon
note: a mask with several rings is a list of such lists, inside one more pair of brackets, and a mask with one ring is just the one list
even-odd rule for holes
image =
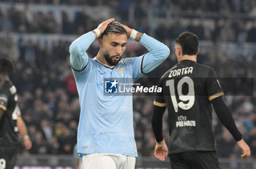
{"label": "black shorts of the player wearing ZORTEA 19", "polygon": [[169,157],[172,169],[221,169],[216,152],[182,152]]}

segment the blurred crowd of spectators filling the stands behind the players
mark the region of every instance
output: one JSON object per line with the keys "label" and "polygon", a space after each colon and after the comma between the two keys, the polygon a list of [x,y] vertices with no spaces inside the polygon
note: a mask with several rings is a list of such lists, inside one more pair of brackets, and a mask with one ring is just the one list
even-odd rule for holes
{"label": "blurred crowd of spectators filling the stands behind the players", "polygon": [[[144,84],[154,84],[152,79],[159,78],[176,64],[173,39],[183,31],[195,32],[200,40],[205,42],[200,45],[206,45],[207,42],[214,43],[214,48],[202,47],[206,50],[201,50],[198,62],[213,67],[218,76],[246,78],[256,76],[256,51],[253,50],[256,49],[256,44],[252,43],[256,42],[256,22],[253,17],[250,17],[256,10],[256,1],[253,0],[151,0],[140,3],[138,0],[112,0],[108,3],[101,0],[3,1],[6,4],[17,2],[10,7],[0,6],[0,44],[2,47],[0,57],[11,58],[15,63],[16,71],[11,79],[18,89],[18,102],[33,143],[32,149],[29,151],[23,149],[20,144],[21,154],[72,154],[76,144],[80,106],[75,79],[69,66],[69,45],[72,41],[59,40],[49,46],[42,45],[39,39],[32,41],[20,36],[15,40],[12,37],[12,34],[20,33],[25,36],[26,34],[61,34],[63,36],[72,34],[78,37],[96,28],[102,21],[79,8],[67,12],[64,9],[59,9],[59,6],[53,6],[56,4],[64,4],[64,6],[85,4],[89,7],[105,5],[110,11],[114,11],[110,16],[119,17],[118,21],[121,23],[127,23],[132,28],[146,32],[165,42],[172,51],[170,57],[159,68],[140,80]],[[18,6],[21,2],[23,4]],[[43,10],[33,10],[31,7],[27,7],[34,4],[39,4],[38,9]],[[44,4],[51,5],[44,6]],[[128,18],[127,12],[132,6],[135,9],[132,17],[134,22],[130,23],[131,18]],[[56,10],[48,10],[48,7],[56,7]],[[119,10],[116,10],[115,7],[118,7]],[[148,9],[152,9],[151,12]],[[200,11],[215,12],[215,14],[216,12],[228,12],[248,14],[248,16],[245,18],[216,17],[214,15],[198,17],[170,14],[171,19],[167,19],[166,15],[170,11],[173,13],[184,11],[188,14]],[[61,15],[57,15],[58,12]],[[154,18],[159,18],[157,24],[148,19],[151,18],[151,13],[154,14]],[[161,22],[161,20],[163,21]],[[223,44],[218,46],[219,42],[223,42]],[[230,45],[230,42],[235,47],[228,48],[228,52],[219,52],[218,47],[226,47]],[[236,55],[236,57],[227,55],[228,53],[240,53],[241,51],[236,45],[239,46],[241,42],[246,42],[252,47],[244,47],[243,55]],[[97,54],[97,50],[97,45],[91,45],[88,50],[89,56],[93,58]],[[146,50],[139,44],[129,43],[124,55],[135,57],[144,52]],[[248,55],[245,55],[247,53]],[[244,135],[244,140],[251,147],[252,156],[256,157],[256,99],[253,97],[256,93],[253,92],[240,93],[239,96],[227,93],[225,101],[230,107],[239,130]],[[135,140],[141,156],[153,156],[154,152],[154,135],[151,130],[153,101],[154,95],[134,95]],[[164,120],[164,135],[168,140],[167,113],[165,113]],[[240,152],[235,146],[236,141],[222,127],[214,112],[213,124],[219,157],[239,158]]]}

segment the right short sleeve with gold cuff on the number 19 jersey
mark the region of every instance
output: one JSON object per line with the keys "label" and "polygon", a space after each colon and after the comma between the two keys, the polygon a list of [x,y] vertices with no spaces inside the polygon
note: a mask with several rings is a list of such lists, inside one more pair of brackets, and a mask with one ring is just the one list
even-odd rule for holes
{"label": "right short sleeve with gold cuff on the number 19 jersey", "polygon": [[206,93],[208,95],[209,101],[224,95],[222,87],[219,84],[219,80],[217,79],[217,75],[212,68],[210,68],[208,71],[208,76],[206,79]]}

